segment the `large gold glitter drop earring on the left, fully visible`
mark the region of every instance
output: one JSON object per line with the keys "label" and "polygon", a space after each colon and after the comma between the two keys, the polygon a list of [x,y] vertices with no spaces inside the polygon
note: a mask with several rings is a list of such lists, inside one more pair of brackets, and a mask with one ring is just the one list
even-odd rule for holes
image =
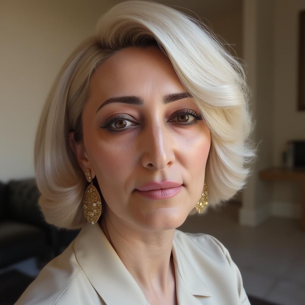
{"label": "large gold glitter drop earring on the left, fully visible", "polygon": [[102,202],[99,192],[96,187],[92,184],[91,171],[89,168],[85,170],[85,176],[88,182],[91,184],[88,185],[84,192],[84,197],[82,201],[82,208],[86,219],[91,223],[95,224],[102,213]]}

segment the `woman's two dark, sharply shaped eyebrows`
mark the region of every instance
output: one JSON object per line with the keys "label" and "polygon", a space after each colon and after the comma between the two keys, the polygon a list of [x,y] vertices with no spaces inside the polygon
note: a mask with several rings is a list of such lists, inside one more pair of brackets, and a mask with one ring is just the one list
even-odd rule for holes
{"label": "woman's two dark, sharply shaped eyebrows", "polygon": [[[163,103],[168,104],[177,101],[179,99],[192,98],[192,97],[193,96],[188,92],[169,93],[163,96]],[[112,97],[110,99],[107,99],[105,102],[103,102],[97,109],[96,113],[98,113],[99,109],[110,103],[126,103],[126,104],[141,106],[144,104],[144,100],[142,99],[142,97],[136,95]]]}

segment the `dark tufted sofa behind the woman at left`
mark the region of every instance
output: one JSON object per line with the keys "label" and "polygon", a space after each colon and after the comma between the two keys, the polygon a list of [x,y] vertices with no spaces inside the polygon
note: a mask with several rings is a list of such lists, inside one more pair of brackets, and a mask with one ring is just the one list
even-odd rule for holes
{"label": "dark tufted sofa behind the woman at left", "polygon": [[30,257],[42,267],[77,236],[45,221],[39,196],[34,178],[0,182],[0,268]]}

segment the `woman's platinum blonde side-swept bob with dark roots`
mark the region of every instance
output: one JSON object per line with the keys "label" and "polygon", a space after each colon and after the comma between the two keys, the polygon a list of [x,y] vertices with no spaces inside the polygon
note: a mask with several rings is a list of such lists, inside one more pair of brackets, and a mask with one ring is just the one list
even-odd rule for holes
{"label": "woman's platinum blonde side-swept bob with dark roots", "polygon": [[68,135],[74,131],[76,142],[83,140],[81,116],[91,75],[115,52],[148,45],[158,46],[170,59],[210,129],[205,173],[209,206],[225,203],[245,185],[255,149],[249,142],[254,125],[241,64],[201,21],[156,2],[125,1],[102,15],[95,36],[70,56],[42,110],[34,165],[39,205],[48,223],[75,229],[86,222],[81,201],[88,182]]}

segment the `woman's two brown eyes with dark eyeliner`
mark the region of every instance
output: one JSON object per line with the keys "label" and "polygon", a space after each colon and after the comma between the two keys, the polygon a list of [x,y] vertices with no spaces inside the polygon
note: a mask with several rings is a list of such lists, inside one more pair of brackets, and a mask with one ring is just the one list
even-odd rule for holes
{"label": "woman's two brown eyes with dark eyeliner", "polygon": [[[202,120],[202,117],[200,115],[198,115],[194,110],[191,109],[185,109],[182,111],[178,111],[177,113],[175,113],[173,118],[179,118],[182,121],[176,121],[173,119],[170,119],[169,122],[177,122],[180,125],[192,125],[192,124],[196,124],[198,120]],[[191,117],[194,118],[194,120],[189,121],[189,119],[191,119]],[[133,125],[129,123],[134,123]],[[115,132],[119,132],[120,130],[126,130],[131,128],[132,126],[137,125],[137,122],[131,120],[129,117],[126,117],[125,115],[120,115],[117,117],[114,117],[113,120],[111,120],[111,122],[109,124],[106,124],[105,126],[102,126],[101,128],[107,128],[109,131],[115,131]],[[126,127],[127,126],[127,127]]]}

